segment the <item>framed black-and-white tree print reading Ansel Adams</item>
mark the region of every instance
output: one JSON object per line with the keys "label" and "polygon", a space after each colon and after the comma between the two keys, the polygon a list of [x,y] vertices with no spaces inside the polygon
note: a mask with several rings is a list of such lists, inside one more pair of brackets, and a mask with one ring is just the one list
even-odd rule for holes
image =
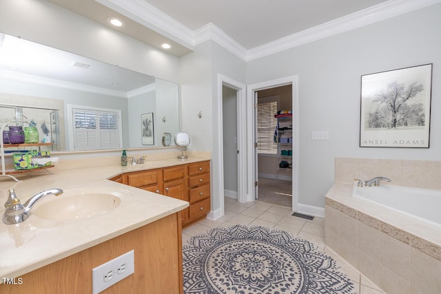
{"label": "framed black-and-white tree print reading Ansel Adams", "polygon": [[361,76],[360,147],[429,148],[432,64]]}

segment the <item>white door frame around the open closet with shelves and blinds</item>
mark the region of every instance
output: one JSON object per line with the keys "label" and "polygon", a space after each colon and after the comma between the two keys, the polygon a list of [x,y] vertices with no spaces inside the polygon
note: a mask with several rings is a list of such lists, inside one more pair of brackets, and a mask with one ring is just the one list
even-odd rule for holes
{"label": "white door frame around the open closet with shelves and blinds", "polygon": [[247,85],[247,104],[246,104],[246,134],[247,134],[247,201],[254,201],[256,199],[257,189],[254,187],[256,178],[257,162],[255,160],[257,149],[254,147],[256,143],[256,136],[254,130],[256,129],[255,123],[255,97],[256,92],[274,87],[280,87],[283,85],[292,85],[292,123],[293,123],[293,154],[292,154],[292,203],[291,208],[293,211],[298,210],[298,76],[286,76],[284,78],[277,78],[271,81],[264,81],[261,83],[255,83]]}

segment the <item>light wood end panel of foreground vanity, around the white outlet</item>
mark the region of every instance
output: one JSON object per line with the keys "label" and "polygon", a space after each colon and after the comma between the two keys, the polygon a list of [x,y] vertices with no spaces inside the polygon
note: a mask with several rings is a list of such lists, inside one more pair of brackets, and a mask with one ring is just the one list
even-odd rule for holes
{"label": "light wood end panel of foreground vanity, around the white outlet", "polygon": [[22,284],[0,284],[0,292],[92,293],[92,269],[132,249],[134,274],[101,293],[183,293],[181,211],[22,275]]}

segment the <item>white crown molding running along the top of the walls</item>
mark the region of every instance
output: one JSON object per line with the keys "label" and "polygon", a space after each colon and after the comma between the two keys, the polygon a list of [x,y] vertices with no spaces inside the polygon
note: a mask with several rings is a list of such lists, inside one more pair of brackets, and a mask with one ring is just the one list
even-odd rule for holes
{"label": "white crown molding running along the top of the walls", "polygon": [[376,6],[348,14],[345,17],[317,25],[314,28],[309,28],[302,32],[291,34],[276,41],[247,50],[213,23],[207,23],[207,25],[204,25],[202,28],[192,31],[144,0],[95,1],[124,14],[126,17],[131,17],[134,21],[138,21],[147,28],[165,34],[165,36],[181,43],[181,45],[189,49],[194,50],[194,46],[212,40],[244,61],[259,59],[342,32],[355,30],[364,25],[441,3],[441,0],[389,0]]}

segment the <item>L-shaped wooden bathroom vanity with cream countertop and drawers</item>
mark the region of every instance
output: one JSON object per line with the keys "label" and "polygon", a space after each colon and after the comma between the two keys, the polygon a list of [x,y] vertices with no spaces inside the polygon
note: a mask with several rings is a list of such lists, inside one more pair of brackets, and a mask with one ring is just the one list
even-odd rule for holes
{"label": "L-shaped wooden bathroom vanity with cream countertop and drawers", "polygon": [[[36,210],[21,224],[1,223],[0,277],[9,279],[1,281],[1,293],[92,293],[92,269],[131,250],[134,274],[102,293],[183,293],[181,227],[210,209],[209,158],[40,171],[18,184],[0,181],[2,203],[12,186],[23,202],[48,187],[64,196],[95,190],[125,196],[118,207],[90,217],[44,218]],[[54,199],[42,198],[32,209]]]}

